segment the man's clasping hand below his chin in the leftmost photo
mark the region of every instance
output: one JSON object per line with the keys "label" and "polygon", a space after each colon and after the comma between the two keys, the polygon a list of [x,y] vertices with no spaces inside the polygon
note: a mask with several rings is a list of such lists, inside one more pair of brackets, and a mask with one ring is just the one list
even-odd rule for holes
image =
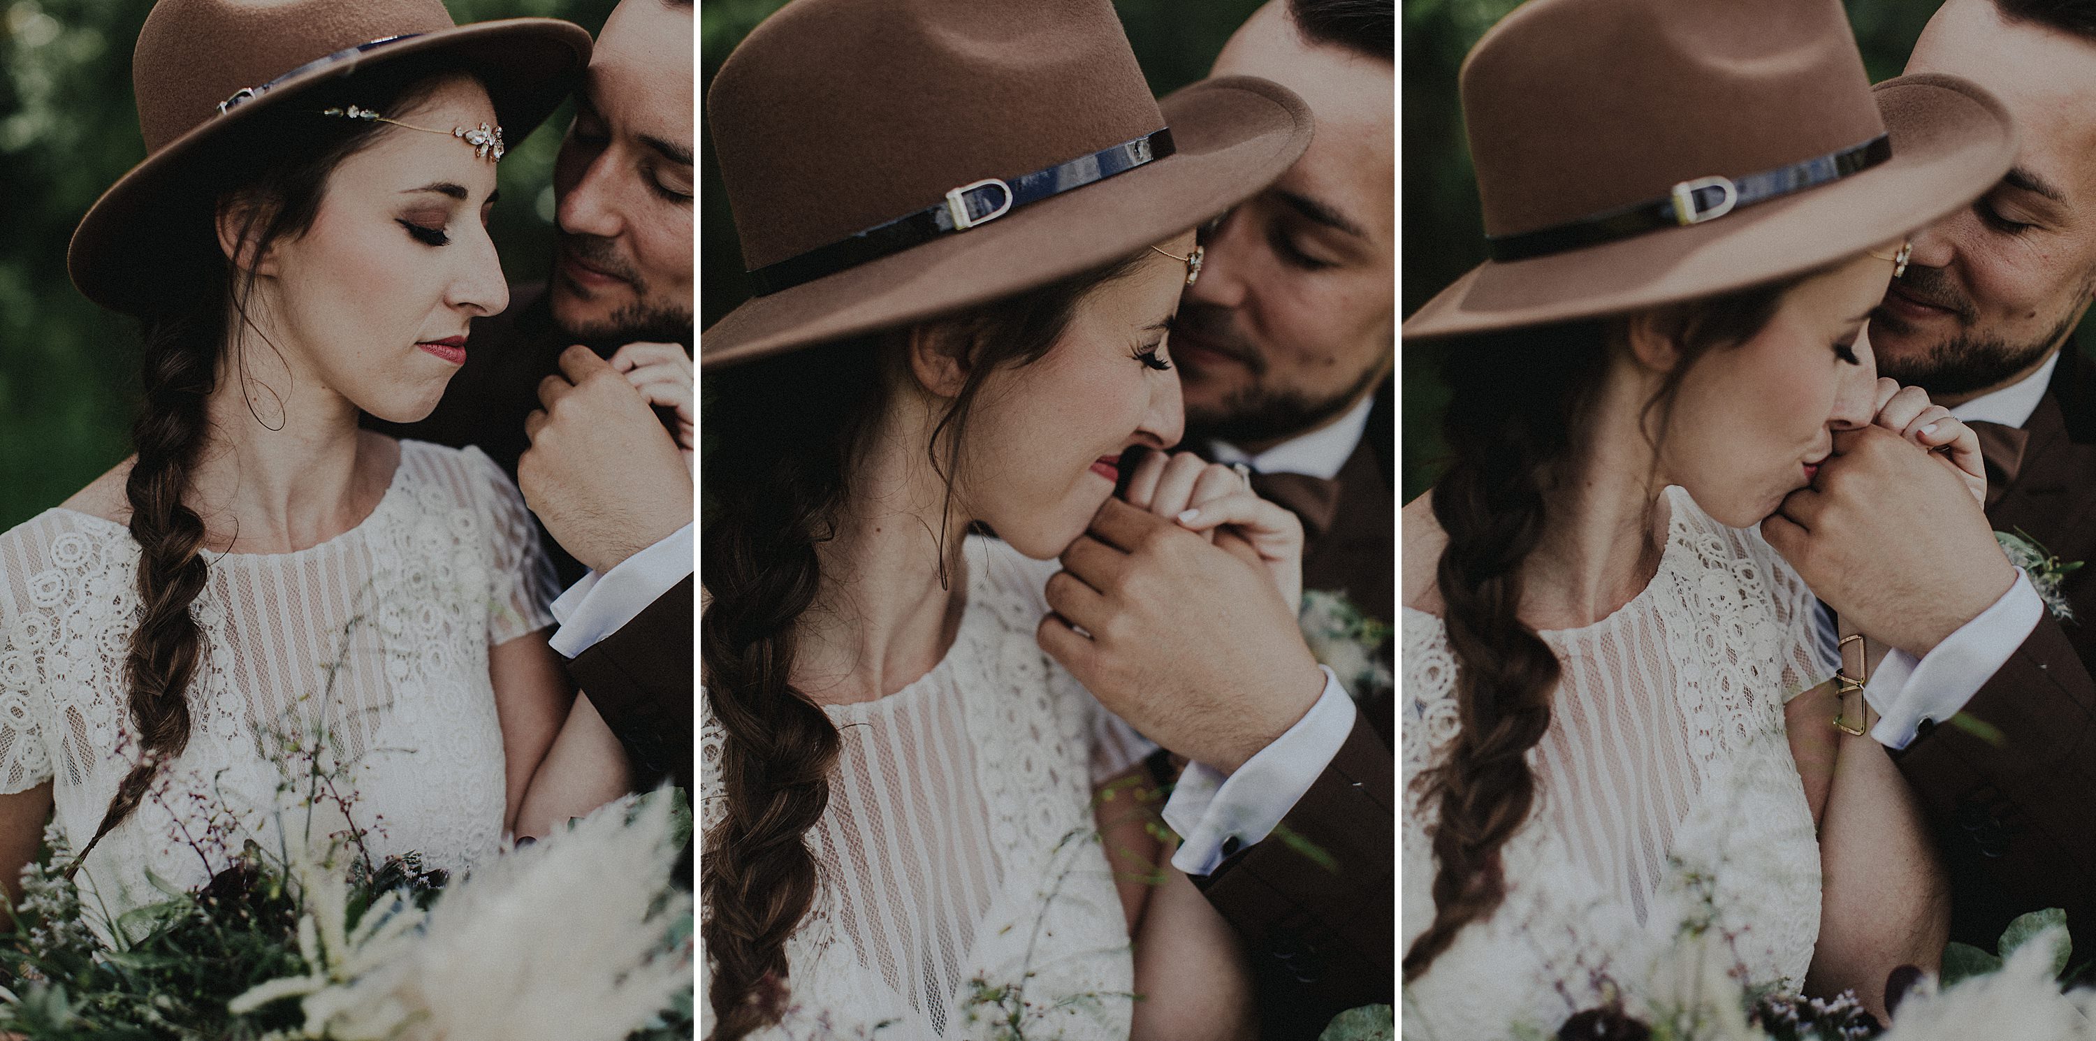
{"label": "man's clasping hand below his chin in the leftmost photo", "polygon": [[692,524],[692,473],[625,373],[589,348],[560,354],[524,419],[518,490],[574,559],[595,572]]}

